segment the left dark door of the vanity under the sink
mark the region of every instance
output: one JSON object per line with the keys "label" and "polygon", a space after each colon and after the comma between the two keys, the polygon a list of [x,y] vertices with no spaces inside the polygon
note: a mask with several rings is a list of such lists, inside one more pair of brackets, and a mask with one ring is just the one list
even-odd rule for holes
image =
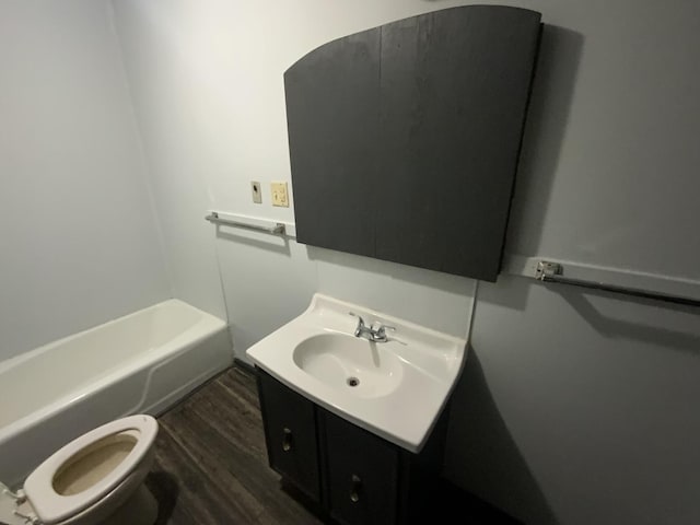
{"label": "left dark door of the vanity under the sink", "polygon": [[270,467],[319,501],[314,404],[260,369],[258,390]]}

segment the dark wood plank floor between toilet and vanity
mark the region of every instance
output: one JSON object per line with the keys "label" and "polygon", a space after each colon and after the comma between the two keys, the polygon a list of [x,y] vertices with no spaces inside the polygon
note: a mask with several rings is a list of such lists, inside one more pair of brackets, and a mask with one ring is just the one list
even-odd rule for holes
{"label": "dark wood plank floor between toilet and vanity", "polygon": [[255,376],[234,366],[159,418],[158,524],[320,524],[268,467]]}

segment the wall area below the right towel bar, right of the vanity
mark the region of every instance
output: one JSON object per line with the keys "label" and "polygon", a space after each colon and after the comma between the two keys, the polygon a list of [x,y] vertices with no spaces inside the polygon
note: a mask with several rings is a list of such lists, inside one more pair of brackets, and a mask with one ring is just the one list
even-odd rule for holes
{"label": "wall area below the right towel bar, right of the vanity", "polygon": [[479,283],[446,470],[549,525],[700,523],[698,310]]}

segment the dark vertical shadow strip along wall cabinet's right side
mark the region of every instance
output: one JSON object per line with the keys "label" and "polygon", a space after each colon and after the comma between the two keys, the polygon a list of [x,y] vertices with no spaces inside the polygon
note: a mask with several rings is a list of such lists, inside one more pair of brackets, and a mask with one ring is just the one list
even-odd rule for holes
{"label": "dark vertical shadow strip along wall cabinet's right side", "polygon": [[[545,20],[546,20],[546,13]],[[558,171],[583,35],[544,24],[521,151],[505,253],[539,249],[552,182]]]}

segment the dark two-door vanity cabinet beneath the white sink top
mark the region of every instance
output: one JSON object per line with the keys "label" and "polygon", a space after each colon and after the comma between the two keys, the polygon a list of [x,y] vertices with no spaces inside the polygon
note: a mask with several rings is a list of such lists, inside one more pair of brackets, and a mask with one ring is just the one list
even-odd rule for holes
{"label": "dark two-door vanity cabinet beneath the white sink top", "polygon": [[442,466],[446,410],[412,454],[256,370],[271,468],[342,525],[421,522]]}

